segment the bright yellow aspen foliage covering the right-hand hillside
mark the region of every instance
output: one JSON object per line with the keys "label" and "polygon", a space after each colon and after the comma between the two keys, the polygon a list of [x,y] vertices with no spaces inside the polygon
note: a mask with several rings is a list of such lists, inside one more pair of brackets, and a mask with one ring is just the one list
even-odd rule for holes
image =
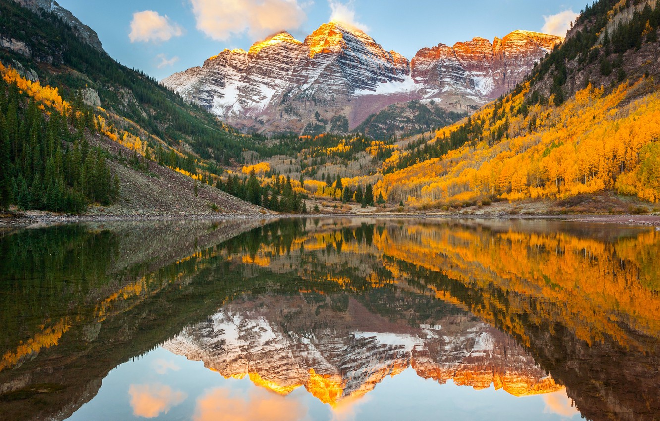
{"label": "bright yellow aspen foliage covering the right-hand hillside", "polygon": [[[486,141],[465,145],[442,158],[387,174],[374,190],[394,201],[460,201],[481,196],[515,201],[563,199],[616,187],[622,193],[658,201],[660,185],[652,176],[654,155],[640,152],[660,136],[660,92],[626,101],[652,83],[642,79],[607,95],[588,86],[560,108],[534,106],[527,117],[512,114],[509,131],[517,127],[517,135],[494,145]],[[515,109],[522,98],[522,94],[507,97],[504,109]],[[473,118],[490,121],[492,112],[492,106],[487,106]],[[525,129],[531,121],[536,130]],[[442,129],[438,135],[457,127]],[[484,136],[494,127],[484,129]],[[645,169],[640,167],[643,160]]]}

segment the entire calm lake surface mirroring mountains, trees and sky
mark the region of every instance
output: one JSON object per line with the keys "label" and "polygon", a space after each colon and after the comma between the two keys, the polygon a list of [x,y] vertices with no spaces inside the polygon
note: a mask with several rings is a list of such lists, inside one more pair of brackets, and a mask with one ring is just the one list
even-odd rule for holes
{"label": "entire calm lake surface mirroring mountains, trees and sky", "polygon": [[660,419],[644,228],[0,230],[0,304],[0,419]]}

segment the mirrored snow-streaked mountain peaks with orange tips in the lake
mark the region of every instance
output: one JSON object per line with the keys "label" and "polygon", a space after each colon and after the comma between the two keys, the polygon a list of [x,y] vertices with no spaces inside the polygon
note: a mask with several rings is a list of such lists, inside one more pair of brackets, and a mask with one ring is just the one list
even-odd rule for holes
{"label": "mirrored snow-streaked mountain peaks with orange tips in the lake", "polygon": [[494,385],[516,396],[560,389],[513,339],[485,323],[447,317],[442,330],[395,325],[387,332],[382,328],[393,323],[371,314],[375,329],[368,329],[351,317],[366,308],[355,300],[348,307],[317,313],[300,297],[234,302],[163,347],[227,378],[249,375],[282,395],[304,386],[330,405],[361,397],[409,367],[439,383]]}

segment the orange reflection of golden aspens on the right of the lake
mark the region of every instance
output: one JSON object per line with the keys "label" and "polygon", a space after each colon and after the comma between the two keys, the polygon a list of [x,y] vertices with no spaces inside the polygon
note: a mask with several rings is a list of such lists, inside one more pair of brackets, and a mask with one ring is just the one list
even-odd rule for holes
{"label": "orange reflection of golden aspens on the right of the lake", "polygon": [[[491,322],[496,319],[495,309],[527,313],[538,323],[562,323],[587,343],[611,338],[626,347],[637,345],[632,339],[637,333],[654,337],[660,332],[660,235],[655,232],[609,241],[568,231],[526,232],[510,225],[496,231],[479,225],[389,223],[368,230],[368,245],[356,239],[358,230],[325,228],[296,240],[291,249],[313,253],[315,259],[325,260],[326,267],[352,266],[374,287],[399,282],[400,288],[410,288],[405,285],[407,269],[401,265],[407,263],[442,273],[468,288],[502,288],[506,298],[496,301],[484,294],[479,308],[467,308]],[[290,271],[290,263],[272,258],[280,252],[261,247],[256,259],[269,256],[271,269]],[[374,266],[363,267],[374,260],[385,275],[370,270]],[[293,269],[308,279],[352,286],[346,276],[319,277],[310,267]],[[432,280],[419,281],[435,290],[438,298],[465,307],[461,297]],[[512,318],[502,323],[529,345],[521,323]]]}

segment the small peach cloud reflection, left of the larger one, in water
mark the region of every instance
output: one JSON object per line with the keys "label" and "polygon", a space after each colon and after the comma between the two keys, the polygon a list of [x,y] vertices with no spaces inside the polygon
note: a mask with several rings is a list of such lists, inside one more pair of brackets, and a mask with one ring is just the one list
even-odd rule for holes
{"label": "small peach cloud reflection, left of the larger one, in water", "polygon": [[182,391],[159,384],[131,385],[128,393],[131,395],[133,414],[145,418],[153,418],[161,412],[167,414],[172,406],[179,405],[187,397]]}

